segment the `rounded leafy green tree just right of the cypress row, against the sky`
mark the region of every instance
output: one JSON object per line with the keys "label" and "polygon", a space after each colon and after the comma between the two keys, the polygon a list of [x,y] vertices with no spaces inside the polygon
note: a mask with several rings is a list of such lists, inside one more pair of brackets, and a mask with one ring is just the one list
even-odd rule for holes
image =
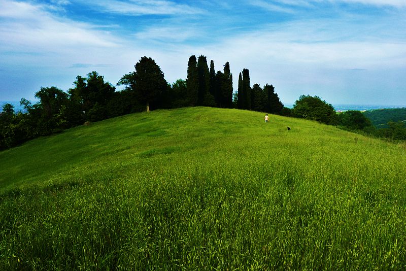
{"label": "rounded leafy green tree just right of the cypress row, against the sky", "polygon": [[316,120],[330,125],[337,124],[337,114],[334,108],[318,96],[301,95],[293,105],[292,113],[299,118]]}

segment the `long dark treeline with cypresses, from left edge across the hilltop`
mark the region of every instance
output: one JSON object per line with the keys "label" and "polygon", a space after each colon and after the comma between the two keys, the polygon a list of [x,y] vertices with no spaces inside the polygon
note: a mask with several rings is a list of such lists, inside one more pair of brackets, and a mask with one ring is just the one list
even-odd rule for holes
{"label": "long dark treeline with cypresses, from left edge across the hilltop", "polygon": [[37,103],[22,98],[23,112],[15,113],[13,105],[5,104],[0,113],[0,150],[67,128],[145,110],[210,106],[283,112],[272,85],[250,86],[248,69],[240,73],[234,93],[229,62],[216,72],[213,60],[209,69],[206,56],[192,55],[186,80],[179,79],[172,85],[152,58],[142,57],[134,67],[135,71],[117,83],[124,86],[121,91],[91,72],[87,77],[77,76],[67,92],[55,86],[41,87],[35,93]]}

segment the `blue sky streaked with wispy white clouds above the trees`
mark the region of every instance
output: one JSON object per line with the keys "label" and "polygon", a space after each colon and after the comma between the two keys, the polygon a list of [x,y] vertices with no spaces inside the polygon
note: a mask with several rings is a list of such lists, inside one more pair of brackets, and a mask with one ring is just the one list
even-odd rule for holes
{"label": "blue sky streaked with wispy white clouds above the trees", "polygon": [[229,61],[234,89],[249,69],[285,104],[406,106],[406,0],[0,2],[0,100],[91,71],[115,85],[142,56],[172,83],[192,54]]}

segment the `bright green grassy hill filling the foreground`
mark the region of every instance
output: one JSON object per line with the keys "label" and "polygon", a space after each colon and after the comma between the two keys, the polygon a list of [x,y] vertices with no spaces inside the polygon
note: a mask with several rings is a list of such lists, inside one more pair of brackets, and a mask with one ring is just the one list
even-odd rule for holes
{"label": "bright green grassy hill filling the foreground", "polygon": [[406,146],[263,115],[157,110],[0,152],[0,269],[406,268]]}

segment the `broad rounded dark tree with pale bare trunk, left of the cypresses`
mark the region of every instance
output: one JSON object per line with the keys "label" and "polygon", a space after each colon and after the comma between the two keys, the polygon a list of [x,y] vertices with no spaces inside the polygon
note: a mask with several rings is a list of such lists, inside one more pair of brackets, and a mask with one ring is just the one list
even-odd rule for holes
{"label": "broad rounded dark tree with pale bare trunk, left of the cypresses", "polygon": [[164,79],[160,67],[151,57],[143,56],[135,65],[136,73],[133,75],[135,81],[135,93],[138,100],[150,111],[150,104],[156,101],[166,90],[167,82]]}

